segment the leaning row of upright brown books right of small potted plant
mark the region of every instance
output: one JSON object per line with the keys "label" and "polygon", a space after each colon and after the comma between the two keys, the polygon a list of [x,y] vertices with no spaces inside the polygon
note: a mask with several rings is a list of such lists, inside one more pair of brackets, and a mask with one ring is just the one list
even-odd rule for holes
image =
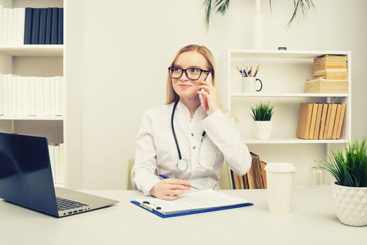
{"label": "leaning row of upright brown books right of small potted plant", "polygon": [[340,139],[345,109],[345,103],[300,103],[296,136]]}

